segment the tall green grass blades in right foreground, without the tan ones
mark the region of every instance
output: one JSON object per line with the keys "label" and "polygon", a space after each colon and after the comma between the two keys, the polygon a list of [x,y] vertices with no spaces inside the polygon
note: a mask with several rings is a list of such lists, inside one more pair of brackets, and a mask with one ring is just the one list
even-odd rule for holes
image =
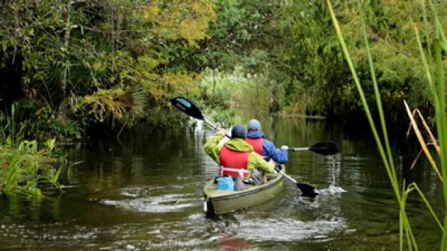
{"label": "tall green grass blades in right foreground, without the tan ones", "polygon": [[[432,214],[434,220],[438,223],[440,227],[440,231],[442,232],[441,238],[441,250],[446,250],[447,245],[447,235],[446,235],[446,226],[447,226],[447,215],[444,216],[444,225],[441,224],[441,221],[438,219],[436,213],[434,213],[430,203],[427,201],[423,192],[420,191],[418,185],[416,183],[411,183],[408,187],[405,188],[405,184],[402,185],[402,190],[400,188],[400,182],[397,178],[395,165],[393,162],[393,154],[390,150],[390,144],[388,140],[388,133],[386,129],[386,123],[383,116],[383,107],[381,104],[381,96],[379,92],[379,85],[376,81],[376,76],[374,73],[374,63],[372,61],[371,52],[369,51],[369,44],[367,33],[365,29],[365,20],[362,13],[362,1],[358,1],[358,8],[360,13],[360,22],[363,38],[365,41],[365,48],[368,56],[369,70],[371,72],[372,84],[374,86],[374,94],[376,98],[376,107],[379,111],[379,123],[382,128],[381,135],[379,135],[378,130],[376,129],[376,124],[372,119],[372,114],[369,110],[369,105],[367,103],[367,99],[365,97],[365,93],[362,89],[362,84],[360,84],[360,80],[358,79],[358,75],[356,69],[353,66],[353,62],[351,60],[351,56],[347,50],[346,43],[344,42],[344,38],[342,35],[342,30],[337,21],[337,17],[335,17],[334,10],[332,9],[332,5],[330,0],[326,0],[328,3],[328,8],[330,11],[330,15],[332,17],[332,23],[334,24],[335,31],[337,33],[337,38],[339,39],[339,43],[342,46],[342,51],[346,62],[348,63],[349,69],[351,70],[351,75],[358,89],[358,93],[360,94],[360,99],[362,101],[362,105],[365,109],[365,114],[369,121],[369,126],[371,126],[374,139],[376,141],[377,147],[379,149],[379,153],[383,160],[383,164],[386,168],[386,172],[388,174],[388,178],[390,179],[390,183],[395,192],[395,197],[397,199],[397,203],[399,206],[399,217],[400,217],[400,250],[404,250],[404,243],[406,243],[406,248],[408,250],[418,250],[418,244],[416,238],[413,235],[413,230],[411,228],[411,223],[409,221],[408,215],[406,214],[406,199],[409,196],[409,193],[413,190],[416,190],[420,197],[425,201],[427,205],[427,209]],[[430,91],[432,93],[432,103],[435,108],[435,119],[437,124],[437,132],[439,145],[441,149],[441,180],[446,180],[447,178],[447,120],[446,120],[446,105],[445,105],[445,86],[444,86],[444,69],[442,62],[442,50],[447,52],[447,38],[444,34],[444,31],[441,29],[441,24],[439,22],[439,18],[437,17],[436,5],[434,3],[430,3],[432,20],[434,22],[434,61],[432,59],[432,48],[430,48],[430,24],[427,21],[427,11],[425,10],[425,1],[421,1],[423,5],[423,20],[425,22],[425,40],[427,42],[427,51],[423,50],[422,43],[420,42],[418,30],[415,26],[416,31],[416,39],[418,40],[418,45],[420,49],[421,59],[423,61],[423,67],[425,68],[425,72],[427,75],[428,83],[430,84]],[[444,188],[444,201],[446,203],[447,208],[447,184],[443,182]]]}

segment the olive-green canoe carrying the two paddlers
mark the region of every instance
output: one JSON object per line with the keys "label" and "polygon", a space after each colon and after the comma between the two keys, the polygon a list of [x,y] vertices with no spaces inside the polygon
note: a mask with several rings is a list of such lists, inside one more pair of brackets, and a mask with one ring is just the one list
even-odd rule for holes
{"label": "olive-green canoe carrying the two paddlers", "polygon": [[[281,169],[284,171],[284,167]],[[217,190],[217,184],[211,182],[203,187],[203,211],[211,215],[229,213],[268,201],[284,189],[284,176],[267,174],[267,179],[264,185],[246,184],[241,191]]]}

